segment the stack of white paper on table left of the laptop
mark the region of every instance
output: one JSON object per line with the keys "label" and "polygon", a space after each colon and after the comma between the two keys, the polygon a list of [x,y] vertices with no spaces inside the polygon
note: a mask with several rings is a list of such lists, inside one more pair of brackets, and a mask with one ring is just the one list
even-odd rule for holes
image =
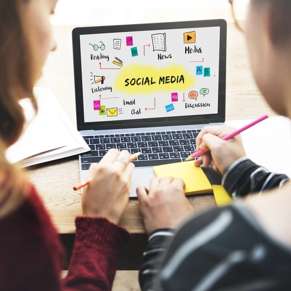
{"label": "stack of white paper on table left of the laptop", "polygon": [[37,87],[34,95],[38,101],[38,114],[32,119],[31,103],[27,99],[20,101],[27,120],[32,121],[21,138],[7,149],[7,160],[27,167],[89,151],[89,146],[51,91]]}

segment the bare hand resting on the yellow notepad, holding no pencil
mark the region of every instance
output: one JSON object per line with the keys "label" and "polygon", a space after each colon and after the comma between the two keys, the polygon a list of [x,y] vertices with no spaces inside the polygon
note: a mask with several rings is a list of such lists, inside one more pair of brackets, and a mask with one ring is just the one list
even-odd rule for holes
{"label": "bare hand resting on the yellow notepad, holding no pencil", "polygon": [[153,178],[149,190],[144,186],[136,189],[147,233],[158,228],[175,228],[193,213],[184,188],[182,179],[169,177]]}

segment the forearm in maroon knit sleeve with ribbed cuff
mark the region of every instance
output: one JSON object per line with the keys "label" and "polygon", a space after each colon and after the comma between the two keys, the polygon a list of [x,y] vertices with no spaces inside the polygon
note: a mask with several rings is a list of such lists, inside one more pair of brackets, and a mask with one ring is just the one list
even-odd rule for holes
{"label": "forearm in maroon knit sleeve with ribbed cuff", "polygon": [[117,258],[129,233],[105,218],[76,219],[76,239],[65,291],[110,291]]}

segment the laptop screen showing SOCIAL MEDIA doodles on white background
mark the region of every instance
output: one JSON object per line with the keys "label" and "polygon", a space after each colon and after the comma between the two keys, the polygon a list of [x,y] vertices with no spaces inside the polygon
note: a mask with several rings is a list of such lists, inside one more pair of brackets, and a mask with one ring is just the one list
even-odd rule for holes
{"label": "laptop screen showing SOCIAL MEDIA doodles on white background", "polygon": [[220,26],[81,34],[84,123],[218,114],[220,41]]}

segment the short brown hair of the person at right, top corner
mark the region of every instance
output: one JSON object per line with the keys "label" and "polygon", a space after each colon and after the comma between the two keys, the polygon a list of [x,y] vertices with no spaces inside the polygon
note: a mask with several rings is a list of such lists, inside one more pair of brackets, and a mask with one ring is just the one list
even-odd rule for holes
{"label": "short brown hair of the person at right, top corner", "polygon": [[291,44],[291,0],[252,0],[256,9],[270,5],[272,41],[275,45]]}

